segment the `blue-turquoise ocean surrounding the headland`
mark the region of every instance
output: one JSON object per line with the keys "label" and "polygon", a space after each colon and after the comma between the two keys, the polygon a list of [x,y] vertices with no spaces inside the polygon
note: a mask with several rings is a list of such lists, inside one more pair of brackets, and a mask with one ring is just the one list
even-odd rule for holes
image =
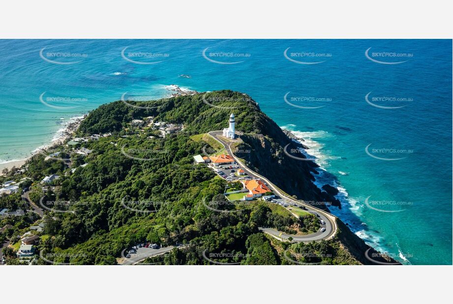
{"label": "blue-turquoise ocean surrounding the headland", "polygon": [[451,40],[0,40],[0,71],[0,162],[125,92],[242,91],[306,139],[367,243],[452,264]]}

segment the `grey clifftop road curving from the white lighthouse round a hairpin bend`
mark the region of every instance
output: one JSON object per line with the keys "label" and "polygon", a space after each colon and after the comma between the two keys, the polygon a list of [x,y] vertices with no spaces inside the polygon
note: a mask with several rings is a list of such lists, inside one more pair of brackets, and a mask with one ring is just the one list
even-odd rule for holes
{"label": "grey clifftop road curving from the white lighthouse round a hairpin bend", "polygon": [[[332,214],[327,213],[327,212],[325,212],[325,211],[323,211],[321,209],[318,209],[316,207],[313,207],[313,206],[311,206],[309,204],[305,204],[303,201],[295,200],[292,197],[287,196],[286,194],[284,194],[280,190],[278,190],[278,188],[272,182],[270,182],[268,179],[266,179],[263,176],[258,175],[257,173],[255,173],[254,171],[252,171],[248,167],[246,167],[241,162],[241,160],[239,160],[233,154],[233,152],[231,151],[230,145],[229,145],[230,143],[225,141],[222,138],[222,136],[221,136],[222,131],[211,131],[208,134],[211,135],[211,137],[213,137],[215,140],[217,140],[219,143],[221,143],[225,147],[225,150],[236,160],[236,162],[242,167],[242,169],[245,171],[245,173],[247,173],[250,177],[255,178],[255,179],[261,179],[262,181],[266,182],[271,187],[271,190],[275,194],[279,195],[284,202],[286,202],[287,204],[295,204],[298,207],[302,207],[303,206],[303,207],[305,207],[307,212],[318,214],[319,218],[324,220],[324,222],[326,223],[324,225],[321,225],[321,227],[325,228],[326,231],[324,231],[324,232],[318,231],[316,233],[312,233],[312,234],[308,234],[308,235],[304,235],[304,236],[289,235],[289,234],[285,234],[285,233],[283,233],[281,231],[277,231],[277,230],[272,229],[272,228],[263,228],[263,227],[261,227],[260,230],[262,230],[265,233],[268,233],[268,234],[272,235],[275,238],[279,238],[279,239],[287,239],[288,237],[292,237],[293,238],[293,242],[319,241],[319,240],[323,240],[323,239],[330,239],[330,238],[332,238],[335,235],[337,227],[336,227],[336,224],[335,224],[335,221],[334,221],[335,217]],[[289,207],[289,208],[291,208],[291,207]]]}

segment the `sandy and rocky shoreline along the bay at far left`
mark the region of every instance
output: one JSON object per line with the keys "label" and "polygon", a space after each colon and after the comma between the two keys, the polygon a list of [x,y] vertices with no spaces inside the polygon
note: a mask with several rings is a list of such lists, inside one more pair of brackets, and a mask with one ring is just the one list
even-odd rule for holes
{"label": "sandy and rocky shoreline along the bay at far left", "polygon": [[56,132],[56,134],[48,144],[38,147],[35,150],[31,151],[30,156],[24,159],[11,160],[4,163],[0,163],[0,177],[3,176],[2,173],[3,169],[7,168],[8,170],[11,170],[13,167],[20,168],[23,165],[25,165],[27,160],[29,160],[34,155],[43,152],[51,147],[63,144],[67,139],[69,139],[72,136],[72,134],[74,134],[75,131],[77,131],[80,124],[87,117],[87,115],[88,114],[84,114],[83,116],[70,118],[69,121],[66,122],[65,126]]}

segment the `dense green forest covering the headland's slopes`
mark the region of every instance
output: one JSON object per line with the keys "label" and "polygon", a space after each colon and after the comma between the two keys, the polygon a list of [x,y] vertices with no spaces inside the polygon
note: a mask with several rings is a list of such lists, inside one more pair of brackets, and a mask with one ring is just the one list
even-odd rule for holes
{"label": "dense green forest covering the headland's slopes", "polygon": [[[228,109],[208,104],[207,96]],[[61,159],[46,160],[37,154],[27,161],[25,173],[16,178],[30,177],[30,199],[48,209],[41,220],[30,215],[20,222],[2,220],[1,226],[11,223],[14,228],[1,236],[11,238],[42,221],[46,225],[45,238],[38,245],[41,254],[71,264],[117,264],[123,249],[141,242],[183,244],[148,259],[150,263],[210,264],[203,258],[208,252],[223,263],[291,264],[285,255],[298,260],[299,254],[299,260],[305,261],[301,252],[310,250],[322,256],[316,263],[355,263],[335,240],[291,245],[264,235],[258,227],[295,233],[294,227],[310,232],[319,225],[314,224],[314,216],[298,219],[273,212],[260,201],[232,204],[223,196],[227,182],[207,166],[194,165],[192,156],[209,143],[191,136],[222,129],[231,112],[238,131],[272,139],[274,123],[253,100],[239,92],[215,91],[139,104],[140,108],[116,101],[88,115],[76,136],[111,133],[76,146],[92,150],[89,155],[71,153],[62,145],[52,151],[60,152]],[[182,124],[183,129],[159,137],[153,128],[130,124],[150,116],[156,122]],[[52,183],[55,188],[44,193],[39,182],[54,173],[60,178]],[[23,202],[18,194],[2,197],[0,204],[14,209]],[[46,264],[41,259],[38,263]]]}

